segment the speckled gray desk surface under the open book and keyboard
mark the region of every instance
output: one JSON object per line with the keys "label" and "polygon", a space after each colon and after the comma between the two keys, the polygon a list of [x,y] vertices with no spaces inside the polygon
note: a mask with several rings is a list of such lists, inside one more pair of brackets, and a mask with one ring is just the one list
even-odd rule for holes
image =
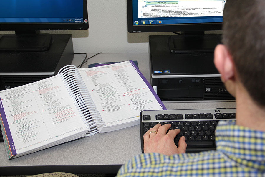
{"label": "speckled gray desk surface under the open book and keyboard", "polygon": [[[79,65],[84,55],[75,54],[72,64]],[[89,54],[88,57],[92,56]],[[89,64],[137,60],[139,69],[150,81],[148,53],[99,54]],[[84,67],[87,67],[85,64]],[[165,103],[167,109],[235,108],[235,102]],[[30,175],[53,171],[69,173],[117,173],[127,160],[141,153],[140,126],[108,133],[98,133],[52,148],[7,160],[0,143],[0,175]]]}

